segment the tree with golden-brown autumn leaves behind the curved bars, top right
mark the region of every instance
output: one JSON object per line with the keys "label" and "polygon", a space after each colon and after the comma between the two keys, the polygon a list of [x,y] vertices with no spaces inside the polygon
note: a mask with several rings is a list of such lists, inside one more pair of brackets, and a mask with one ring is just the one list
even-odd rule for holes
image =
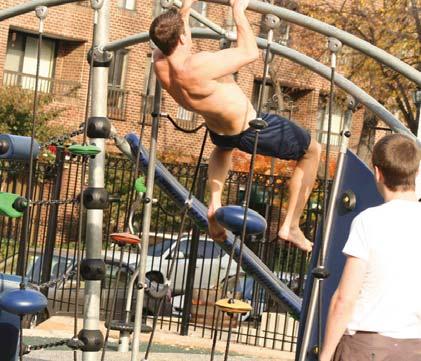
{"label": "tree with golden-brown autumn leaves behind the curved bars, top right", "polygon": [[[350,32],[421,70],[420,7],[421,0],[319,0],[302,3],[300,10]],[[326,59],[326,53],[322,51],[326,49],[325,41],[319,44],[318,51],[313,48],[311,55]],[[412,101],[415,84],[347,47],[340,55],[338,70],[392,113],[399,114],[413,133],[417,132],[418,114]],[[371,146],[366,142],[373,141],[374,137],[369,133],[377,123],[377,119],[366,113],[360,149],[370,150]]]}

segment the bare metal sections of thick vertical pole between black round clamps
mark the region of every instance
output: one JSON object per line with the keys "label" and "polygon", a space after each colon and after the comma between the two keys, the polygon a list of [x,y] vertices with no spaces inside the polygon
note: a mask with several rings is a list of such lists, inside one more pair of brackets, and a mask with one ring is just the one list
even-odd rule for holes
{"label": "bare metal sections of thick vertical pole between black round clamps", "polygon": [[[97,48],[106,44],[109,32],[109,0],[104,0],[98,10],[97,25],[94,33],[93,47]],[[91,115],[107,116],[108,92],[108,67],[95,66],[92,69],[92,98]],[[101,149],[95,158],[89,161],[89,187],[104,187],[105,169],[105,140],[90,139],[90,144],[95,144]],[[102,227],[103,210],[89,209],[86,219],[86,257],[88,259],[102,258]],[[101,281],[85,282],[83,328],[85,330],[99,330],[99,313],[101,298]],[[98,360],[98,352],[83,352],[83,361]]]}

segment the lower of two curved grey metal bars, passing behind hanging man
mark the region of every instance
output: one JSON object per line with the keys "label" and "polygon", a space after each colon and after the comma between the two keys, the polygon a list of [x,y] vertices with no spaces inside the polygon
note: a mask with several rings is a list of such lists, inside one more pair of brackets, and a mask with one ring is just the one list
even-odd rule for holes
{"label": "lower of two curved grey metal bars, passing behind hanging man", "polygon": [[[192,29],[192,36],[198,39],[221,39],[221,35],[215,33],[212,30],[195,28]],[[132,35],[130,37],[116,40],[112,43],[108,43],[104,46],[104,50],[118,50],[129,45],[134,45],[138,42],[145,42],[149,40],[149,34],[147,32]],[[257,38],[257,45],[259,48],[265,49],[267,47],[267,40],[262,38]],[[291,60],[294,63],[300,64],[305,68],[310,69],[311,71],[319,74],[323,78],[330,79],[330,68],[322,63],[319,63],[317,60],[300,53],[297,50],[288,48],[286,46],[272,43],[271,52],[276,55],[280,55],[286,59]],[[405,134],[412,139],[414,139],[418,145],[421,147],[421,141],[411,133],[411,131],[406,128],[398,119],[396,119],[392,113],[390,113],[383,105],[381,105],[377,100],[368,95],[364,90],[355,85],[352,81],[346,79],[344,76],[337,74],[335,77],[335,84],[352,95],[358,102],[363,104],[367,109],[373,112],[376,116],[382,119],[393,131],[397,133]]]}

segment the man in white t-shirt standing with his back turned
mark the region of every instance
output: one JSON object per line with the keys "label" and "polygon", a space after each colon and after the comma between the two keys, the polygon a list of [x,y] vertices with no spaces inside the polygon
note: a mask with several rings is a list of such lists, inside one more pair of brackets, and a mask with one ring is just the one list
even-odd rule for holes
{"label": "man in white t-shirt standing with his back turned", "polygon": [[385,203],[352,223],[320,361],[421,360],[420,151],[410,138],[389,135],[372,161]]}

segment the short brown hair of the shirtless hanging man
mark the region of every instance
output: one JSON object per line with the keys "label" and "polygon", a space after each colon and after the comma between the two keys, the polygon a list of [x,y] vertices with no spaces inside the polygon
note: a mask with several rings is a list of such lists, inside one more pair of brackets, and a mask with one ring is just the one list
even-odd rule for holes
{"label": "short brown hair of the shirtless hanging man", "polygon": [[166,56],[174,52],[182,34],[184,34],[184,22],[175,8],[156,17],[149,28],[151,40]]}

